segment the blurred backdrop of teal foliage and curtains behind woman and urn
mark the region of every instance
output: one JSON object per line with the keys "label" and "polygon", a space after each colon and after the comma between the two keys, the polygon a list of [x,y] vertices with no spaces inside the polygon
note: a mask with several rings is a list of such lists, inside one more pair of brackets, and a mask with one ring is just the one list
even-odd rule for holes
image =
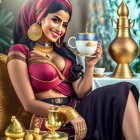
{"label": "blurred backdrop of teal foliage and curtains behind woman and urn", "polygon": [[[23,2],[24,0],[0,0],[0,53],[7,54],[13,45],[12,28]],[[104,50],[97,66],[105,67],[106,71],[113,71],[116,64],[109,55],[108,47],[116,37],[116,31],[112,28],[110,19],[117,21],[117,9],[122,0],[71,0],[71,2],[73,15],[65,41],[77,33],[85,32],[87,26],[89,32],[97,34]],[[140,47],[140,1],[125,0],[125,2],[129,8],[129,18],[136,20],[131,35]],[[78,57],[77,60],[83,63],[83,57]],[[131,67],[134,72],[140,73],[140,51]]]}

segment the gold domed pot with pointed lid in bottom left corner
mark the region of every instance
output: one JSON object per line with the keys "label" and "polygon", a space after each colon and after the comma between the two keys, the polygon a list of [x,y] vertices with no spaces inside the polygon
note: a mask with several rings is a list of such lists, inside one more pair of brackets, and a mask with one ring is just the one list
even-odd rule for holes
{"label": "gold domed pot with pointed lid in bottom left corner", "polygon": [[15,116],[12,116],[11,123],[5,130],[5,135],[7,140],[23,140],[25,128]]}

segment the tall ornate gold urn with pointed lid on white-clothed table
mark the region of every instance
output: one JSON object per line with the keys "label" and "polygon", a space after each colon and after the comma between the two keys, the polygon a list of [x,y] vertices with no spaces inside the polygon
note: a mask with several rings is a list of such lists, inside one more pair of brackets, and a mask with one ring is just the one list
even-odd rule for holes
{"label": "tall ornate gold urn with pointed lid on white-clothed table", "polygon": [[[112,26],[113,21],[117,24],[117,36],[109,46],[109,53],[112,59],[117,62],[117,67],[111,75],[114,78],[135,78],[129,64],[135,59],[138,53],[138,46],[132,39],[130,28],[134,27],[135,20],[130,21],[128,19],[129,10],[124,0],[120,4],[117,11],[119,18],[117,22],[111,19]],[[131,23],[133,25],[131,26]]]}

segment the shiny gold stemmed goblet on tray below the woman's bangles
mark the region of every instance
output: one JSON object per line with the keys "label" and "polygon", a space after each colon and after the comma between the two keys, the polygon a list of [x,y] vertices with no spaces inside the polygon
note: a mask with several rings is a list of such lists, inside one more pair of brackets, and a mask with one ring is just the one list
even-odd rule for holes
{"label": "shiny gold stemmed goblet on tray below the woman's bangles", "polygon": [[56,132],[63,125],[61,116],[58,110],[49,110],[48,120],[45,126],[49,129],[49,133],[43,135],[43,140],[68,140],[68,134],[64,132]]}

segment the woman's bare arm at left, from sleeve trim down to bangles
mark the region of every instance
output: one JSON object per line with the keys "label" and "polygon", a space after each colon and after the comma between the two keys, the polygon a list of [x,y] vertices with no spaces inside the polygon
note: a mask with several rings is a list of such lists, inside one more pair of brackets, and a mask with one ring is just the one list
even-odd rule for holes
{"label": "woman's bare arm at left, from sleeve trim down to bangles", "polygon": [[24,109],[27,112],[45,117],[51,105],[35,99],[27,64],[19,59],[12,59],[8,62],[7,67],[12,85]]}

